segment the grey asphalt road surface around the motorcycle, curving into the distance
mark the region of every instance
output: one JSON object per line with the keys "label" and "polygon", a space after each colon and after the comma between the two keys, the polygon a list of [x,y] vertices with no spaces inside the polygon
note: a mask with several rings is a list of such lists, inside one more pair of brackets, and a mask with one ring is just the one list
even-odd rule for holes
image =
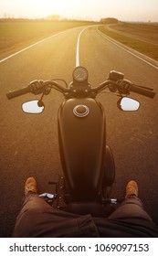
{"label": "grey asphalt road surface around the motorcycle, curving into the distance", "polygon": [[[10,237],[24,197],[28,176],[37,178],[38,190],[50,192],[48,181],[62,174],[58,155],[58,106],[63,96],[52,91],[45,98],[41,115],[26,115],[21,103],[38,98],[31,94],[12,101],[5,93],[20,89],[31,80],[62,78],[70,82],[76,66],[77,41],[83,28],[74,28],[51,37],[0,63],[0,237]],[[146,61],[146,60],[145,60]],[[89,70],[94,86],[105,80],[111,69],[125,74],[136,84],[157,92],[158,69],[102,37],[95,27],[86,29],[79,41],[79,64]],[[158,224],[158,104],[157,95],[141,101],[139,112],[121,112],[118,98],[100,94],[107,117],[107,144],[116,165],[112,197],[122,197],[126,183],[135,179],[145,208]]]}

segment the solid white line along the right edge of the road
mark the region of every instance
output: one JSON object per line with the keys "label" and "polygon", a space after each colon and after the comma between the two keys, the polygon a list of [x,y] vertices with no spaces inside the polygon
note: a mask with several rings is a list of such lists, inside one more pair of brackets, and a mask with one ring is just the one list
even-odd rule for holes
{"label": "solid white line along the right edge of the road", "polygon": [[[113,43],[113,44],[116,45],[117,47],[124,49],[124,50],[127,51],[128,53],[132,54],[132,56],[136,57],[137,59],[141,59],[143,62],[145,62],[146,64],[152,66],[154,69],[158,69],[157,66],[153,65],[153,64],[152,64],[151,62],[149,62],[148,60],[145,60],[145,59],[143,59],[142,57],[140,57],[140,56],[136,55],[135,53],[133,53],[133,52],[132,52],[133,49],[128,48],[127,46],[126,46],[126,48],[123,47],[123,46],[124,46],[123,44],[121,44],[120,42],[118,42],[118,41],[112,39],[111,37],[106,36],[105,34],[103,34],[102,32],[100,32],[100,30],[99,30],[98,28],[97,28],[97,32],[100,34],[101,37],[103,37],[103,38],[109,40],[111,43]],[[128,49],[127,49],[127,48],[128,48]],[[135,50],[135,51],[136,51],[136,50]],[[137,51],[136,51],[136,52],[137,52]],[[141,53],[138,52],[138,54],[141,54]],[[146,57],[146,56],[144,56],[144,57]],[[147,57],[147,58],[148,58],[148,57]],[[154,59],[152,59],[152,60],[153,60],[153,61],[156,61],[156,60],[154,60]]]}

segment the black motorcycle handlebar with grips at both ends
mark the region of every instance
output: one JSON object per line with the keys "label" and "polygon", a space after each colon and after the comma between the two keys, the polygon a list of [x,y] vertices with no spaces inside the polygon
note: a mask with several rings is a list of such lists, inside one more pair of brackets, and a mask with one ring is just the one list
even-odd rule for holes
{"label": "black motorcycle handlebar with grips at both ends", "polygon": [[[37,87],[35,87],[35,85]],[[73,85],[73,83],[72,83],[72,85]],[[112,86],[113,91],[111,90],[111,86]],[[20,95],[26,94],[28,92],[32,92],[34,94],[43,93],[43,94],[47,95],[49,92],[48,93],[46,92],[47,91],[46,88],[49,88],[49,91],[51,89],[55,89],[57,91],[60,91],[65,96],[67,94],[76,96],[77,92],[78,92],[77,91],[78,86],[74,86],[74,87],[71,86],[69,88],[65,88],[65,87],[61,86],[60,84],[58,84],[57,82],[55,82],[54,80],[47,80],[47,81],[35,80],[35,81],[32,81],[27,87],[24,87],[20,90],[9,91],[8,93],[6,93],[6,96],[7,96],[8,100],[10,100],[10,99],[18,97]],[[82,88],[82,91],[83,92],[86,91],[86,94],[85,94],[86,97],[88,97],[88,96],[89,97],[95,97],[97,95],[97,93],[99,93],[100,91],[105,90],[106,88],[109,88],[109,90],[111,92],[119,91],[120,95],[121,94],[127,94],[128,95],[128,94],[130,94],[130,91],[133,91],[133,92],[142,94],[142,95],[147,96],[147,97],[152,98],[152,99],[155,96],[155,92],[152,91],[151,89],[135,85],[129,80],[105,80],[99,86],[97,86],[95,88],[91,88],[90,85],[89,85],[89,89],[88,89],[88,87],[85,87],[85,85],[84,85],[83,88]],[[79,87],[79,90],[80,90],[80,87]]]}

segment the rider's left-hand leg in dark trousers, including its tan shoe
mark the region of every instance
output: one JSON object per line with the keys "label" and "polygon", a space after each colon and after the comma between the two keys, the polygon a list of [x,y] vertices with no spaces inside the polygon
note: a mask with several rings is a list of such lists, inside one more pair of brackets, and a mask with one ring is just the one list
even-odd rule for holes
{"label": "rider's left-hand leg in dark trousers, including its tan shoe", "polygon": [[[37,184],[31,178],[26,185],[26,199],[16,219],[13,237],[97,237],[98,231],[90,215],[52,208],[37,195]],[[27,181],[26,181],[27,183]],[[28,188],[28,189],[27,189]]]}

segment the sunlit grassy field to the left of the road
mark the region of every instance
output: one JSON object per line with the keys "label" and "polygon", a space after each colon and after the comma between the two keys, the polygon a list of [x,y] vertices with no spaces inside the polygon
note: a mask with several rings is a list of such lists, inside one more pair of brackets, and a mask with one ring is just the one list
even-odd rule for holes
{"label": "sunlit grassy field to the left of the road", "polygon": [[90,25],[82,21],[1,21],[0,54],[22,48],[54,33],[71,28]]}

